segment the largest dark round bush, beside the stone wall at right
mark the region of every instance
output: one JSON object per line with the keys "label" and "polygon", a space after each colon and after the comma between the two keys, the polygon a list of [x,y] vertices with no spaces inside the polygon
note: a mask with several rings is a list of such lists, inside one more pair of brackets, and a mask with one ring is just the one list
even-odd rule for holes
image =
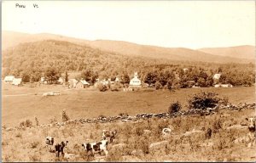
{"label": "largest dark round bush, beside the stone wall at right", "polygon": [[188,100],[189,109],[207,109],[217,106],[220,98],[217,97],[218,93],[197,93]]}

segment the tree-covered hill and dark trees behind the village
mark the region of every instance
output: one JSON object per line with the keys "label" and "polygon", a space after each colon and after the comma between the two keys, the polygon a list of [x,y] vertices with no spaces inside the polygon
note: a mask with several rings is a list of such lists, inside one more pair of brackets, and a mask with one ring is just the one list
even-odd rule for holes
{"label": "tree-covered hill and dark trees behind the village", "polygon": [[23,43],[3,51],[3,76],[19,76],[23,82],[38,82],[44,76],[49,84],[61,74],[67,80],[70,72],[80,72],[79,77],[90,83],[119,77],[125,84],[138,71],[143,82],[157,87],[191,87],[191,81],[210,87],[215,73],[222,74],[221,83],[250,86],[255,80],[254,66],[128,57],[55,40]]}

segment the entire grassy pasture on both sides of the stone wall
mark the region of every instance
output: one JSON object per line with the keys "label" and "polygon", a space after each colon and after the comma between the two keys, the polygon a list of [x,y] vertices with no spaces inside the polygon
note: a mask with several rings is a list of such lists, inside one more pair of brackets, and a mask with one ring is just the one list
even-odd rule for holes
{"label": "entire grassy pasture on both sides of the stone wall", "polygon": [[[99,92],[96,88],[67,89],[61,86],[12,87],[3,85],[2,123],[19,126],[29,119],[35,125],[48,124],[53,117],[61,121],[61,111],[71,119],[99,115],[166,112],[170,103],[179,101],[187,110],[187,98],[201,90],[228,97],[231,104],[255,102],[255,87],[186,88],[175,92],[146,89],[138,92]],[[60,91],[60,96],[43,97],[42,93]],[[255,147],[247,147],[245,118],[254,110],[220,110],[214,115],[151,118],[144,121],[32,126],[3,130],[3,161],[253,161]],[[163,137],[161,130],[172,129]],[[209,136],[207,129],[211,128]],[[117,138],[108,145],[108,156],[87,157],[82,143],[102,139],[102,130],[116,129]],[[197,131],[197,132],[194,132]],[[73,158],[58,159],[45,148],[44,138],[68,140],[64,152]],[[241,141],[240,141],[241,140]],[[14,155],[15,154],[15,155]]]}

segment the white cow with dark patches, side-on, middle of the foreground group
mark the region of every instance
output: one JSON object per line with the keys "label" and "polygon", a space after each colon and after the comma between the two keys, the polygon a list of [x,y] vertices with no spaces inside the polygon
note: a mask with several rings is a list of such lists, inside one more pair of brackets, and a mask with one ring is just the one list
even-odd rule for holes
{"label": "white cow with dark patches, side-on, middle of the foreground group", "polygon": [[102,155],[102,151],[105,153],[106,156],[108,155],[108,140],[102,140],[98,143],[83,143],[82,147],[84,147],[87,154],[88,152],[91,152],[93,156],[96,153]]}

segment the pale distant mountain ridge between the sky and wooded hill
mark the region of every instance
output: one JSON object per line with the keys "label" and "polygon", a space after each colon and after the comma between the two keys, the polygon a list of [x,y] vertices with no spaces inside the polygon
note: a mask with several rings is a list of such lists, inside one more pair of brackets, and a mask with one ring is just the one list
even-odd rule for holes
{"label": "pale distant mountain ridge between the sky and wooded hill", "polygon": [[[26,34],[13,31],[2,32],[2,48],[3,50],[11,47],[15,47],[22,42],[38,42],[43,40],[59,40],[73,42],[80,45],[90,46],[91,48],[97,48],[102,51],[119,53],[128,56],[141,56],[153,59],[172,59],[172,60],[189,60],[189,61],[203,61],[203,62],[215,62],[215,63],[249,63],[254,62],[254,50],[252,46],[241,46],[243,48],[229,48],[229,53],[218,53],[217,48],[201,48],[193,50],[189,48],[161,48],[149,45],[139,45],[131,42],[123,41],[109,41],[109,40],[96,40],[88,41],[72,37],[62,37],[53,34],[41,33],[41,34]],[[210,50],[209,50],[210,49]],[[222,49],[222,48],[221,48]],[[224,50],[222,50],[224,51]],[[227,50],[226,50],[227,51]],[[241,58],[243,52],[246,53],[246,58]],[[234,52],[236,52],[234,54]]]}

